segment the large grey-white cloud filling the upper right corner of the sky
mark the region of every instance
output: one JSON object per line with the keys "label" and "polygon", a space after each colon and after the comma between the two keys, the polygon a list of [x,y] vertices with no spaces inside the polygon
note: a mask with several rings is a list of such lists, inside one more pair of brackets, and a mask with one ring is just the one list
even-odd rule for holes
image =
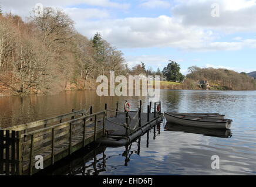
{"label": "large grey-white cloud filling the upper right corner of the sky", "polygon": [[[225,33],[256,31],[256,1],[250,0],[177,0],[172,8],[176,19],[183,25]],[[220,18],[213,18],[212,4],[220,5]]]}

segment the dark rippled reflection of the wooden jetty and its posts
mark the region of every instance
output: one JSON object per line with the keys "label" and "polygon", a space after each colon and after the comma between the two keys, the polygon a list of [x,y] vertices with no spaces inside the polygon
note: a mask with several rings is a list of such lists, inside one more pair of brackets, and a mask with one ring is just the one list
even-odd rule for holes
{"label": "dark rippled reflection of the wooden jetty and its posts", "polygon": [[[160,130],[160,123],[157,123],[157,125],[151,129],[153,130],[154,138],[157,136],[156,129]],[[151,130],[144,133],[147,137],[147,148],[149,147],[150,143],[149,134]],[[105,154],[107,147],[92,144],[73,154],[71,157],[57,162],[52,167],[46,168],[36,175],[100,175],[102,172],[107,171],[107,160],[113,157],[122,157],[124,167],[128,167],[133,155],[140,155],[141,138],[142,137],[139,137],[132,143],[122,147],[123,153],[120,155],[108,156]]]}

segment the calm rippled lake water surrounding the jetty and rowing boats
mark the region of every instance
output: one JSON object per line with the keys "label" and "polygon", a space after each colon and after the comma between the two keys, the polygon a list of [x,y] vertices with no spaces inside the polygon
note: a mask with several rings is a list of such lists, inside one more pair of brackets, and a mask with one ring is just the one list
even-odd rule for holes
{"label": "calm rippled lake water surrounding the jetty and rowing boats", "polygon": [[[0,127],[16,126],[93,105],[94,112],[127,99],[135,109],[145,97],[98,97],[94,91],[0,98]],[[203,130],[162,122],[127,147],[90,147],[42,174],[49,175],[255,175],[256,91],[161,90],[162,111],[223,113],[231,130]],[[146,110],[146,108],[145,108]],[[212,169],[211,157],[220,157]]]}

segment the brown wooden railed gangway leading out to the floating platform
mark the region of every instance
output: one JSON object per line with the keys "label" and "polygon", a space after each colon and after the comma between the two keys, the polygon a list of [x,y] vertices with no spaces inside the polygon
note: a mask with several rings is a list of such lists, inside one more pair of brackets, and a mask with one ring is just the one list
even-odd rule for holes
{"label": "brown wooden railed gangway leading out to the floating platform", "polygon": [[105,120],[106,110],[91,115],[80,110],[0,130],[0,174],[32,175],[36,156],[43,158],[44,167],[54,164],[104,136]]}

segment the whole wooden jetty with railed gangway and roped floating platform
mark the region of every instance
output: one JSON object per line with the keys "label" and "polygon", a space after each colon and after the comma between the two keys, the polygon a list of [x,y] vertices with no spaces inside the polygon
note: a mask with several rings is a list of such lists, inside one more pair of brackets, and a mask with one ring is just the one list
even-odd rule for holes
{"label": "whole wooden jetty with railed gangway and roped floating platform", "polygon": [[[39,159],[46,168],[90,143],[130,140],[129,136],[145,126],[151,127],[149,124],[163,115],[160,102],[154,103],[153,113],[151,102],[147,113],[142,113],[141,103],[133,112],[121,112],[118,103],[115,110],[105,105],[105,110],[97,113],[90,106],[88,110],[0,130],[0,175],[33,175],[40,171],[36,167]],[[116,117],[107,117],[111,112]]]}

